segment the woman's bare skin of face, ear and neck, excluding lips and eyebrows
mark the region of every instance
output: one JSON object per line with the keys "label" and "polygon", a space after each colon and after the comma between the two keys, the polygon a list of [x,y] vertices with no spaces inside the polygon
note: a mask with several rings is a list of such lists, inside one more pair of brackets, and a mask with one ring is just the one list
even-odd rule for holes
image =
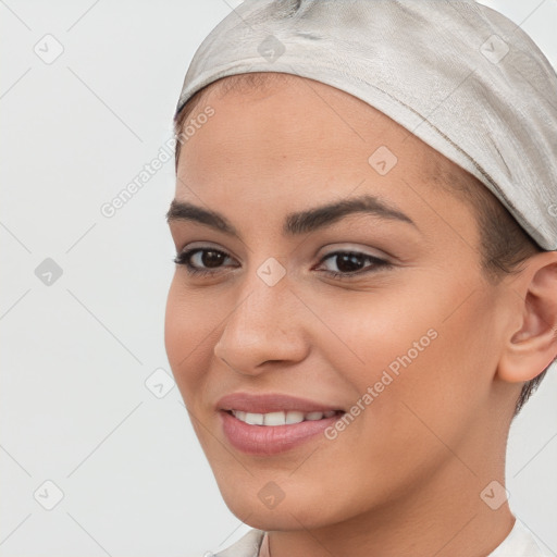
{"label": "woman's bare skin of face, ear and neck, excluding lips and eyebrows", "polygon": [[[272,557],[484,557],[515,519],[480,495],[505,483],[520,389],[557,354],[557,253],[491,282],[472,209],[428,180],[467,173],[429,145],[310,79],[219,90],[191,114],[215,111],[182,146],[175,198],[220,212],[240,237],[171,219],[177,252],[225,256],[189,258],[208,276],[176,267],[165,345],[226,505],[270,532]],[[385,175],[368,162],[381,146],[397,157]],[[290,212],[363,194],[414,225],[360,212],[282,233]],[[361,271],[326,258],[338,250],[362,253]],[[274,286],[257,273],[269,258],[286,271]],[[437,337],[335,440],[248,456],[224,436],[215,404],[225,394],[349,410],[431,329]],[[271,481],[284,493],[274,508],[258,496]]]}

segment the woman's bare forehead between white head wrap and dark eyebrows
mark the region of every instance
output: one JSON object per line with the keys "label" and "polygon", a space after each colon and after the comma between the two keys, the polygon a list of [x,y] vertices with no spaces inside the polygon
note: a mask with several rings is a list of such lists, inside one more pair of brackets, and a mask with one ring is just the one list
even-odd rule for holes
{"label": "woman's bare forehead between white head wrap and dark eyebrows", "polygon": [[436,187],[466,171],[360,99],[301,78],[214,87],[187,122],[208,107],[213,115],[182,147],[175,197],[219,211],[243,237],[264,242],[261,232],[280,235],[287,214],[370,194],[436,249],[476,244],[471,208]]}

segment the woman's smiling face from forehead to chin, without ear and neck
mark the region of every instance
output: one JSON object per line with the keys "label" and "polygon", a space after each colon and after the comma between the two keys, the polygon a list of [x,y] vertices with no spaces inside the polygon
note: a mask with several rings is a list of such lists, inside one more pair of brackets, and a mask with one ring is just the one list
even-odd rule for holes
{"label": "woman's smiling face from forehead to chin, without ear and neck", "polygon": [[[199,212],[176,206],[170,227],[208,274],[176,267],[165,344],[227,506],[300,529],[441,478],[480,493],[507,295],[481,274],[471,209],[429,178],[465,172],[321,83],[211,91],[190,117],[207,106],[175,194]],[[349,210],[366,196],[368,211]],[[231,394],[255,398],[220,403]],[[304,413],[320,409],[338,412]],[[271,425],[297,411],[307,421]]]}

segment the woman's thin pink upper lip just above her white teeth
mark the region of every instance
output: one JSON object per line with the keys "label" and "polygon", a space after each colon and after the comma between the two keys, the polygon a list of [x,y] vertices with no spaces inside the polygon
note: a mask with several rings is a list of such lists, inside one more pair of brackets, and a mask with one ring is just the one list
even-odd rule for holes
{"label": "woman's thin pink upper lip just above her white teeth", "polygon": [[249,393],[232,393],[223,396],[216,403],[218,410],[240,410],[251,413],[269,413],[278,411],[297,410],[299,412],[326,412],[342,410],[337,406],[331,406],[306,398],[283,395],[280,393],[265,393],[250,395]]}

